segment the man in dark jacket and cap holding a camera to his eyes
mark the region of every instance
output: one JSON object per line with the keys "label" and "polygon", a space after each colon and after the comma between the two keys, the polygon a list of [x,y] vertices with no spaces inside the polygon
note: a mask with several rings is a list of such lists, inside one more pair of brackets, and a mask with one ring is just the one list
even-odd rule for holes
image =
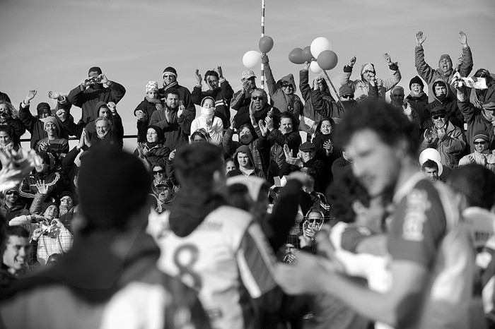
{"label": "man in dark jacket and cap holding a camera to his eyes", "polygon": [[[103,87],[103,85],[107,87]],[[120,83],[108,80],[102,73],[101,68],[94,66],[88,71],[88,78],[84,78],[81,83],[69,92],[67,100],[76,107],[83,110],[81,120],[88,124],[98,117],[98,109],[95,105],[98,102],[115,102],[117,104],[125,95],[125,88]]]}

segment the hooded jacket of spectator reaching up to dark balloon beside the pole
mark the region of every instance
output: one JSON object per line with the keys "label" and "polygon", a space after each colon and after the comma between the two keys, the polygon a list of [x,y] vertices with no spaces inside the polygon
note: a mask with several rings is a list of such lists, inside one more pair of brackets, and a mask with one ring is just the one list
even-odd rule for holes
{"label": "hooded jacket of spectator reaching up to dark balloon beside the pole", "polygon": [[[296,82],[294,81],[294,76],[291,74],[284,76],[280,80],[276,81],[273,77],[272,68],[270,64],[264,64],[264,76],[267,77],[267,88],[270,98],[272,99],[272,105],[280,110],[280,112],[289,111],[294,114],[296,119],[303,114],[303,102],[301,98],[296,95]],[[282,90],[282,83],[291,83],[294,87],[294,93],[292,95],[286,95],[284,90]],[[298,124],[298,122],[297,122]],[[297,125],[298,126],[298,125]]]}

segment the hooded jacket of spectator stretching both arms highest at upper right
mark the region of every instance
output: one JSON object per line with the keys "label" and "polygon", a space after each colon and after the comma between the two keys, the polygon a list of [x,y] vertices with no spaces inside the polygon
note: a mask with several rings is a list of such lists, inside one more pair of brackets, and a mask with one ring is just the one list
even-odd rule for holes
{"label": "hooded jacket of spectator stretching both arms highest at upper right", "polygon": [[[450,82],[452,81],[452,78],[455,74],[455,71],[451,69],[448,72],[443,72],[440,68],[432,68],[428,64],[426,64],[426,61],[424,60],[424,48],[423,46],[416,46],[414,49],[414,54],[415,54],[415,65],[416,65],[416,71],[418,72],[418,75],[423,78],[423,80],[428,83],[428,95],[429,95],[429,100],[430,102],[433,102],[433,83],[435,83],[436,80],[441,79],[447,83],[447,85],[450,87],[450,90],[455,93],[455,88],[453,88],[452,85],[450,85]],[[460,76],[469,76],[469,74],[472,71],[472,53],[471,53],[471,48],[470,47],[465,47],[462,48],[462,64],[460,66]]]}

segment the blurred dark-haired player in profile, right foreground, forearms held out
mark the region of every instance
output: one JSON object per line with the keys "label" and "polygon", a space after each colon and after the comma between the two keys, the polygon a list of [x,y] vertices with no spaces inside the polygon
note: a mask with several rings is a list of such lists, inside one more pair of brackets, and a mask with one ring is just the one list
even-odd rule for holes
{"label": "blurred dark-haired player in profile, right foreground, forearms held out", "polygon": [[[337,136],[371,198],[393,194],[388,234],[390,287],[373,292],[335,262],[328,235],[317,236],[330,260],[298,255],[276,278],[290,293],[325,292],[374,321],[395,328],[469,328],[474,255],[458,207],[445,186],[424,179],[415,161],[417,128],[388,104],[351,109]],[[445,261],[449,260],[449,261]]]}

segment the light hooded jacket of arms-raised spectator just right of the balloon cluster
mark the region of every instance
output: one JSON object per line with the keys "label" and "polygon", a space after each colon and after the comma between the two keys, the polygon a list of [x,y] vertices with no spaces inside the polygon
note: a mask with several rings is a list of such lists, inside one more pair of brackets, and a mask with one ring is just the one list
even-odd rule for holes
{"label": "light hooded jacket of arms-raised spectator just right of the balloon cluster", "polygon": [[[351,87],[352,91],[354,92],[355,100],[363,95],[367,96],[369,94],[370,83],[364,80],[362,76],[363,68],[366,65],[368,64],[363,64],[363,66],[361,66],[361,78],[358,80],[350,80],[353,66],[344,66],[344,74],[340,79],[340,85],[349,85],[349,87]],[[397,64],[388,66],[388,71],[390,73],[390,78],[388,78],[387,80],[378,78],[376,79],[378,95],[380,95],[380,97],[382,97],[383,99],[385,99],[385,92],[388,92],[388,90],[394,88],[395,85],[397,85],[397,83],[399,83],[400,79],[402,78],[399,66],[397,66]]]}

